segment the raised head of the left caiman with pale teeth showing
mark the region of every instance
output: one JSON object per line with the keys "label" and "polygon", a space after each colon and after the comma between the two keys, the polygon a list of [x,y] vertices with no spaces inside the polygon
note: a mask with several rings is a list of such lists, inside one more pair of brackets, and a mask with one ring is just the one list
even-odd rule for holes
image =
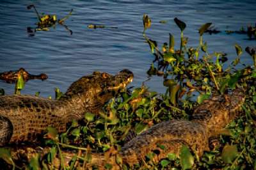
{"label": "raised head of the left caiman with pale teeth showing", "polygon": [[132,79],[133,73],[129,70],[122,70],[116,75],[93,72],[72,83],[60,100],[68,100],[72,105],[83,105],[88,112],[97,112]]}

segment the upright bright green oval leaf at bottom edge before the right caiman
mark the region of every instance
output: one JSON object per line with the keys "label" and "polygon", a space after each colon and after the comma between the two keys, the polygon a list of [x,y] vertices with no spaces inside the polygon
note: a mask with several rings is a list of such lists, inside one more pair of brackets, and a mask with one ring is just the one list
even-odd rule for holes
{"label": "upright bright green oval leaf at bottom edge before the right caiman", "polygon": [[182,169],[191,169],[194,164],[194,157],[190,153],[188,146],[182,145],[180,149],[180,165]]}

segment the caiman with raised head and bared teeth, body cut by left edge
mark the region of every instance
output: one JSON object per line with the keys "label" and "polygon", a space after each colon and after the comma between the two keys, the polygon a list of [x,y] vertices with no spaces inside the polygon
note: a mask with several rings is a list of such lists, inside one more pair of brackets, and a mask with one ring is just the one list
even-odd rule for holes
{"label": "caiman with raised head and bared teeth, body cut by left edge", "polygon": [[129,70],[116,75],[93,72],[73,82],[59,100],[30,95],[0,97],[0,145],[34,142],[47,127],[65,132],[69,121],[97,113],[102,106],[133,79]]}

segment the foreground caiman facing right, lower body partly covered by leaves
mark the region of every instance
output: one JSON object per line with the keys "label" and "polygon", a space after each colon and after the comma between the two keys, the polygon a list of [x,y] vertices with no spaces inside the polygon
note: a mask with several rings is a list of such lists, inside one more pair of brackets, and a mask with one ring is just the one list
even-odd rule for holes
{"label": "foreground caiman facing right, lower body partly covered by leaves", "polygon": [[[241,114],[244,99],[242,89],[236,89],[227,95],[214,96],[204,100],[195,109],[191,120],[170,120],[158,123],[124,144],[120,151],[81,153],[80,150],[77,154],[80,157],[90,154],[92,159],[86,164],[86,168],[97,166],[99,169],[104,169],[106,164],[111,164],[113,169],[122,169],[122,164],[132,167],[134,164],[143,162],[148,153],[157,150],[158,153],[153,161],[159,162],[161,158],[166,158],[168,153],[179,156],[182,145],[189,146],[197,157],[201,157],[204,151],[209,150],[209,138],[218,136],[230,121]],[[36,153],[44,155],[50,149],[25,146],[11,148],[11,151],[15,160],[24,157],[30,160]],[[65,164],[68,164],[72,157],[76,157],[76,153],[70,151],[61,151],[61,154]],[[122,158],[122,164],[116,163],[117,155],[118,160]],[[59,157],[55,157],[53,162],[55,162],[54,167],[60,167]]]}

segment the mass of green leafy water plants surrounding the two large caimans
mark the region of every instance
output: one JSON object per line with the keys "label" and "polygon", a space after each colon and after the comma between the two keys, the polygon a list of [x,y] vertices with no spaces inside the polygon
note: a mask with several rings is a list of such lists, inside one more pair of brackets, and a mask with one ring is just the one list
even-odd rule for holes
{"label": "mass of green leafy water plants surrounding the two large caimans", "polygon": [[[184,146],[179,157],[168,153],[166,158],[155,162],[153,158],[157,151],[153,151],[143,158],[143,162],[129,167],[122,164],[122,158],[116,155],[116,164],[122,169],[256,169],[255,47],[245,49],[252,56],[253,66],[243,64],[243,49],[235,45],[236,59],[225,67],[223,65],[228,61],[226,54],[210,54],[207,43],[203,41],[211,23],[198,29],[198,47],[188,47],[189,39],[184,36],[186,24],[175,18],[174,22],[180,28],[180,45],[179,49],[175,49],[172,34],[161,48],[147,36],[151,22],[148,15],[143,16],[143,37],[155,58],[147,73],[163,77],[165,94],[149,91],[144,84],[140,88],[122,91],[104,106],[100,114],[84,113],[84,119],[73,121],[63,134],[58,134],[54,128],[47,128],[45,143],[42,144],[42,147],[48,147],[44,156],[35,153],[29,160],[20,161],[12,157],[10,149],[1,148],[0,157],[5,160],[1,164],[13,169],[86,169],[90,167],[93,153],[105,153],[108,159],[124,143],[152,125],[172,119],[189,120],[193,110],[205,99],[239,87],[244,89],[246,95],[243,116],[232,121],[220,136],[211,139],[211,151],[205,151],[203,157],[196,157]],[[237,65],[240,69],[236,68]],[[20,77],[16,83],[19,91],[25,83]],[[4,95],[3,89],[0,94]],[[56,89],[57,100],[61,94]],[[63,158],[65,151],[74,153],[68,164]],[[105,165],[106,169],[111,167],[111,164]]]}

